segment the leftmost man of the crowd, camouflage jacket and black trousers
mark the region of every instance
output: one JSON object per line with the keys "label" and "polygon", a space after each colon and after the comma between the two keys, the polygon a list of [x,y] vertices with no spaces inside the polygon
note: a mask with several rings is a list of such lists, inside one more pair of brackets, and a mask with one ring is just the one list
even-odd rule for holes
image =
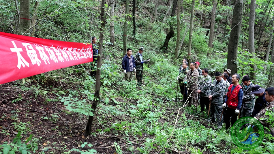
{"label": "leftmost man of the crowd, camouflage jacket and black trousers", "polygon": [[186,77],[187,72],[188,72],[187,67],[188,67],[187,61],[183,61],[183,64],[180,66],[180,69],[179,69],[179,76],[177,77],[177,80],[179,81],[179,85],[180,85],[181,94],[183,95],[184,102],[187,100],[187,87],[185,86],[185,83],[183,82],[183,80]]}

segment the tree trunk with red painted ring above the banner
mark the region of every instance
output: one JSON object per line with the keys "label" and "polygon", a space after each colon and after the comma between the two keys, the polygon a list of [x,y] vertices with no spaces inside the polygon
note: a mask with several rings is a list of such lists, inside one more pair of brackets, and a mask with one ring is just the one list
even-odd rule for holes
{"label": "tree trunk with red painted ring above the banner", "polygon": [[20,1],[19,33],[22,35],[30,27],[29,0]]}

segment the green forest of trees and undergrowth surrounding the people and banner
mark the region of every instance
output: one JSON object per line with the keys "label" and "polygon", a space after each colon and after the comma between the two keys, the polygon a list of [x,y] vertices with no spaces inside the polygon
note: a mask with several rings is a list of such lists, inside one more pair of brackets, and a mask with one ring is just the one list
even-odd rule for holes
{"label": "green forest of trees and undergrowth surrounding the people and banner", "polygon": [[[0,84],[0,154],[274,154],[270,134],[254,149],[237,147],[231,129],[206,121],[200,105],[186,106],[176,80],[186,58],[208,68],[212,79],[228,68],[273,87],[273,6],[274,0],[0,0],[0,32],[85,44],[96,37],[99,54],[96,62]],[[125,80],[121,63],[128,48],[134,56],[140,47],[150,61],[136,88],[136,74]]]}

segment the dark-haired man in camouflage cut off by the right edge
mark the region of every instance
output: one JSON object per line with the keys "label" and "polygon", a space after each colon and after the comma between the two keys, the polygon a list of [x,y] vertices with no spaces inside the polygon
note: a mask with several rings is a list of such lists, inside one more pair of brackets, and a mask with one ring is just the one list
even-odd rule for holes
{"label": "dark-haired man in camouflage cut off by the right edge", "polygon": [[262,109],[254,118],[258,119],[263,126],[267,127],[270,130],[269,134],[271,134],[274,137],[273,123],[268,121],[269,115],[266,115],[266,112],[274,113],[274,88],[273,87],[269,87],[265,89],[265,100],[268,102],[266,108]]}

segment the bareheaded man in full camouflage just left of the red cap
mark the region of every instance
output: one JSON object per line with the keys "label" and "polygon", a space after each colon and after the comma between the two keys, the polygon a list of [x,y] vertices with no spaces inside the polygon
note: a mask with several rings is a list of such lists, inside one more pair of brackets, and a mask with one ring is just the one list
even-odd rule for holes
{"label": "bareheaded man in full camouflage just left of the red cap", "polygon": [[194,106],[197,106],[197,82],[198,82],[198,76],[199,72],[195,68],[195,63],[191,62],[189,65],[190,70],[187,72],[187,76],[185,77],[185,84],[187,84],[188,87],[188,104],[187,106],[191,106],[191,103],[193,101]]}

